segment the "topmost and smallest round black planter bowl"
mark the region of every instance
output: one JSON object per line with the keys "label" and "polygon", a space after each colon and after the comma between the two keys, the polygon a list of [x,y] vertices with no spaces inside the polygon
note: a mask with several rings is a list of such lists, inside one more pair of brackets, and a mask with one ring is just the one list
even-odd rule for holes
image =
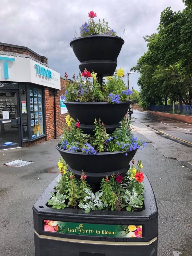
{"label": "topmost and smallest round black planter bowl", "polygon": [[114,74],[123,44],[121,37],[113,35],[87,35],[70,42],[75,56],[81,62],[81,72],[86,68],[102,76]]}

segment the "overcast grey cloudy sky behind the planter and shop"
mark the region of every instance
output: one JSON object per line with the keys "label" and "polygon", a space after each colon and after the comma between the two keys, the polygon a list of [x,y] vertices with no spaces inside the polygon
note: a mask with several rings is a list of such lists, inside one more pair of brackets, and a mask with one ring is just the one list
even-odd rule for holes
{"label": "overcast grey cloudy sky behind the planter and shop", "polygon": [[[69,46],[73,34],[93,10],[98,18],[109,22],[111,29],[125,44],[119,54],[117,68],[130,72],[147,50],[145,35],[157,32],[161,11],[185,8],[182,0],[1,0],[0,34],[2,43],[27,46],[48,58],[48,65],[63,77],[79,73],[79,61]],[[129,75],[129,85],[136,90],[138,73]],[[126,77],[127,80],[127,77]]]}

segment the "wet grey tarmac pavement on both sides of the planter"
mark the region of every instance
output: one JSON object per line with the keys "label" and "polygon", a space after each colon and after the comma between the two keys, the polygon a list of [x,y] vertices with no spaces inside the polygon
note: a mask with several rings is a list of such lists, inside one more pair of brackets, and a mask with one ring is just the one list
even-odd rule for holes
{"label": "wet grey tarmac pavement on both sides of the planter", "polygon": [[[147,133],[139,125],[143,126],[134,119],[134,134],[145,139],[147,146],[137,151],[135,160],[142,160],[142,170],[147,174],[157,199],[158,256],[191,256],[191,170],[176,158],[167,157],[167,151],[162,154],[156,148],[157,137],[163,139],[166,146],[174,141],[156,134],[150,127],[145,127],[149,129]],[[60,156],[55,149],[56,143],[58,140],[50,140],[32,147],[0,151],[0,256],[35,255],[32,206],[58,175]],[[182,152],[185,147],[191,150],[178,144],[184,147]],[[174,152],[175,147],[169,150]],[[23,167],[3,165],[16,159],[34,163]]]}

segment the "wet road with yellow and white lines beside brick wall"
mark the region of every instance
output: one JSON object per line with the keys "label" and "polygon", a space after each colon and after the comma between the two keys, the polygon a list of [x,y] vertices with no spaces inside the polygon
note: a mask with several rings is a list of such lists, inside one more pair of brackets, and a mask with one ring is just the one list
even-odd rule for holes
{"label": "wet road with yellow and white lines beside brick wall", "polygon": [[131,117],[133,131],[144,135],[165,157],[192,169],[192,125],[135,109]]}

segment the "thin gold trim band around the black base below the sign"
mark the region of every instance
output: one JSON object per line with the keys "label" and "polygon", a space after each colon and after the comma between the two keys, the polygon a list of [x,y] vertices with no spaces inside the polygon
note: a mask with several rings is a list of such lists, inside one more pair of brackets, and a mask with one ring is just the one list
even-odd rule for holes
{"label": "thin gold trim band around the black base below the sign", "polygon": [[34,233],[43,239],[51,239],[63,242],[72,242],[72,243],[86,243],[86,244],[94,244],[94,245],[150,245],[151,243],[157,240],[157,237],[153,238],[149,242],[114,242],[114,241],[93,241],[93,240],[82,240],[82,239],[71,239],[64,237],[51,237],[50,235],[39,235],[36,230]]}

